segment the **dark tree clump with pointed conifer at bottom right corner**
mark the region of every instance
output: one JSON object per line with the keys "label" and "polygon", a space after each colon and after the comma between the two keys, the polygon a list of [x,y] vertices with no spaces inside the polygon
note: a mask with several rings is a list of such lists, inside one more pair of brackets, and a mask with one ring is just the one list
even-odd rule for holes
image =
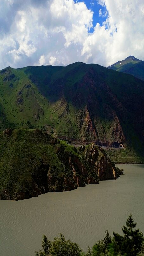
{"label": "dark tree clump with pointed conifer at bottom right corner", "polygon": [[96,242],[88,256],[144,256],[144,237],[139,229],[134,229],[136,223],[130,214],[126,226],[123,226],[123,236],[113,232],[113,238],[106,230],[104,239]]}

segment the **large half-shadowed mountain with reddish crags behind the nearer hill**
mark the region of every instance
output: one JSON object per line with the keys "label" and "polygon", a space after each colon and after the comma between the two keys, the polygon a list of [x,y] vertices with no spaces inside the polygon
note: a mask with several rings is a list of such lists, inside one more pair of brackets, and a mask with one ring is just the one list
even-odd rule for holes
{"label": "large half-shadowed mountain with reddish crags behind the nearer hill", "polygon": [[75,143],[142,153],[144,82],[97,64],[0,72],[0,130],[38,128]]}

